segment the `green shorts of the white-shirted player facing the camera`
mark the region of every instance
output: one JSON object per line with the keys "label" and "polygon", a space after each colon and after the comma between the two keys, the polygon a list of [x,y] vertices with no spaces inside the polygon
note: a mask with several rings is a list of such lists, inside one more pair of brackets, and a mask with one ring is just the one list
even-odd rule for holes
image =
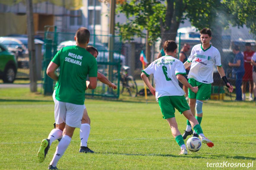
{"label": "green shorts of the white-shirted player facing the camera", "polygon": [[207,100],[211,97],[211,84],[198,82],[195,79],[188,79],[188,82],[193,86],[198,86],[198,92],[194,93],[188,89],[188,98],[195,98],[197,100]]}

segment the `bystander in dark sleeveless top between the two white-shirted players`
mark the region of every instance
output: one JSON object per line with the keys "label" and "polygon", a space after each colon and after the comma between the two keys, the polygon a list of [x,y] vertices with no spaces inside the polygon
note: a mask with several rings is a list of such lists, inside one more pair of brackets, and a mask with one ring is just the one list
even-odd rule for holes
{"label": "bystander in dark sleeveless top between the two white-shirted players", "polygon": [[[182,49],[180,50],[180,53],[179,53],[179,60],[182,62],[182,63],[185,63],[187,61],[187,55],[186,53],[190,50],[190,45],[189,44],[184,44],[184,46],[182,47]],[[186,69],[186,75],[183,75],[187,81],[188,81],[188,73],[189,73],[189,70],[190,70],[190,67],[187,67]],[[185,91],[186,95],[186,100],[188,99],[188,88],[187,86],[183,85],[181,82],[179,82],[179,86],[182,88],[183,87],[183,90]]]}

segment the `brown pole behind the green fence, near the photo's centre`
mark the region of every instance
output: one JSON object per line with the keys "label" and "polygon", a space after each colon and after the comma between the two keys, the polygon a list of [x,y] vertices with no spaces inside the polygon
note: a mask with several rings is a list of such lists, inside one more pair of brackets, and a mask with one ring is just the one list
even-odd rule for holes
{"label": "brown pole behind the green fence, near the photo's centre", "polygon": [[[115,45],[115,6],[116,1],[110,1],[110,18],[109,18],[109,62],[114,61],[114,45]],[[109,65],[109,80],[113,82],[113,65]],[[109,88],[112,92],[112,88]]]}

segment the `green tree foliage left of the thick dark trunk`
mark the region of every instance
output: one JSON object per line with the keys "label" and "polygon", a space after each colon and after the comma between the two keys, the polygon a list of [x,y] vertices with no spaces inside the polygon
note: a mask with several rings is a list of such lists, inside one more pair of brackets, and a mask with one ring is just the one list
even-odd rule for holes
{"label": "green tree foliage left of the thick dark trunk", "polygon": [[117,5],[117,14],[123,13],[126,23],[117,23],[117,30],[123,40],[131,41],[134,36],[145,37],[148,30],[150,41],[160,35],[159,18],[164,16],[165,5],[158,0],[131,0]]}

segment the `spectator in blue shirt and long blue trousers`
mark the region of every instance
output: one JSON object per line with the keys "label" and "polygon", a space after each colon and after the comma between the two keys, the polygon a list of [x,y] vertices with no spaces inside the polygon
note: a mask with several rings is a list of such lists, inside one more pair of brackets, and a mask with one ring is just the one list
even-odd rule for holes
{"label": "spectator in blue shirt and long blue trousers", "polygon": [[236,54],[236,57],[233,63],[228,63],[230,67],[233,67],[233,73],[236,75],[236,100],[242,101],[242,78],[244,76],[244,56],[240,52],[240,49],[237,45],[233,46],[233,53]]}

